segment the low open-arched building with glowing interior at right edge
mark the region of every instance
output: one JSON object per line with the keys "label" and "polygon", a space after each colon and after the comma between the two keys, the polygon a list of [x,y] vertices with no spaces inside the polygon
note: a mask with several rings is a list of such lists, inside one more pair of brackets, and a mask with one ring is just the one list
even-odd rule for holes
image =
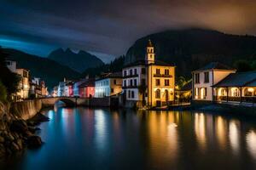
{"label": "low open-arched building with glowing interior at right edge", "polygon": [[213,88],[215,101],[256,102],[256,71],[231,73]]}

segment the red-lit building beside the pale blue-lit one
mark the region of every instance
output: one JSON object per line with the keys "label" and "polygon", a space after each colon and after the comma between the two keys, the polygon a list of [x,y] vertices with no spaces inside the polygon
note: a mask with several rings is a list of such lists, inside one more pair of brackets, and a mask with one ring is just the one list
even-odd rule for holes
{"label": "red-lit building beside the pale blue-lit one", "polygon": [[92,98],[95,94],[95,79],[87,79],[79,85],[80,98]]}

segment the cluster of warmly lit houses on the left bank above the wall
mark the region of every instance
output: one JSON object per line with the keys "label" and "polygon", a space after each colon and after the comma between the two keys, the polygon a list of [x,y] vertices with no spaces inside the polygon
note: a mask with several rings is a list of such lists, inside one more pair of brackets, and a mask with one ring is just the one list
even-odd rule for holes
{"label": "cluster of warmly lit houses on the left bank above the wall", "polygon": [[49,95],[44,80],[38,77],[31,77],[30,71],[24,68],[18,68],[17,62],[12,59],[6,59],[6,65],[9,71],[20,76],[18,91],[12,95],[15,101],[29,98],[42,98]]}

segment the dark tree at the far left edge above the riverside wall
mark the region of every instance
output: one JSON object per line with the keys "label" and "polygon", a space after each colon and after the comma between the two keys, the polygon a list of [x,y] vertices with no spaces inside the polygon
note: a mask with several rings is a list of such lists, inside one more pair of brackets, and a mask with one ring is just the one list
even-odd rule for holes
{"label": "dark tree at the far left edge above the riverside wall", "polygon": [[7,68],[5,60],[9,57],[9,54],[5,54],[0,47],[0,81],[3,83],[7,90],[7,94],[14,94],[17,92],[20,77]]}

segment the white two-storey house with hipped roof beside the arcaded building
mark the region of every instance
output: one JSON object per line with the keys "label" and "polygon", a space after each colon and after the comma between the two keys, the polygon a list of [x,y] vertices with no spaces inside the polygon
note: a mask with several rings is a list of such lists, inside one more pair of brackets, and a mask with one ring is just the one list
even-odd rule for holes
{"label": "white two-storey house with hipped roof beside the arcaded building", "polygon": [[218,62],[212,62],[201,69],[192,71],[192,99],[194,101],[212,101],[213,86],[236,70]]}

